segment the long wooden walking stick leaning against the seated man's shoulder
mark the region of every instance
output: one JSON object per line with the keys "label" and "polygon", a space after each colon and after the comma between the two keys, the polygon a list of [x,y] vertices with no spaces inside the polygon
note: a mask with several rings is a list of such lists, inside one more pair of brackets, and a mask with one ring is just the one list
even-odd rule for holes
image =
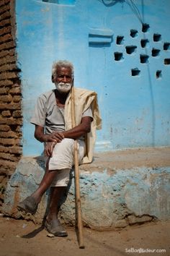
{"label": "long wooden walking stick leaning against the seated man's shoulder", "polygon": [[[76,115],[75,115],[75,98],[74,98],[74,87],[71,91],[71,121],[72,128],[76,127]],[[80,195],[80,184],[79,184],[79,151],[77,146],[77,140],[74,141],[74,179],[75,179],[75,204],[76,204],[76,217],[78,226],[78,239],[79,248],[84,248],[83,242],[83,226],[81,221],[81,195]]]}

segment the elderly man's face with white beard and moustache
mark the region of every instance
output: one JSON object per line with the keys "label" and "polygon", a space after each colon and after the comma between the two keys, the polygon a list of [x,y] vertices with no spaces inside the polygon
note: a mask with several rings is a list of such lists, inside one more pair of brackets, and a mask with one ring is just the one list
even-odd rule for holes
{"label": "elderly man's face with white beard and moustache", "polygon": [[55,87],[60,93],[69,93],[73,85],[73,78],[71,75],[71,69],[67,67],[61,67],[57,69],[57,75],[55,78]]}

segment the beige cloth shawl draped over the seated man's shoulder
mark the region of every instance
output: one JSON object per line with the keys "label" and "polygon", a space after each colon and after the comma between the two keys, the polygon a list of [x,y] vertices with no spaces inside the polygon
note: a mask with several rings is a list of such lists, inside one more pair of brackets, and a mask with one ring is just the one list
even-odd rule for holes
{"label": "beige cloth shawl draped over the seated man's shoulder", "polygon": [[[89,106],[91,106],[94,120],[91,122],[91,132],[86,135],[86,155],[82,163],[91,163],[93,159],[93,150],[96,140],[96,129],[102,129],[102,119],[99,115],[99,107],[97,103],[97,93],[83,88],[74,88],[76,125],[81,123],[81,116]],[[71,123],[71,93],[68,95],[65,104],[64,118],[66,130],[72,128]]]}

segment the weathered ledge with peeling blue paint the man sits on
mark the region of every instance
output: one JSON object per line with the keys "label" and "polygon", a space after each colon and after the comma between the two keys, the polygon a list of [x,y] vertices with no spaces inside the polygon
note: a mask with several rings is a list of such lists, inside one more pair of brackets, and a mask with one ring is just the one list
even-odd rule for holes
{"label": "weathered ledge with peeling blue paint the man sits on", "polygon": [[[115,229],[170,216],[170,148],[143,148],[96,154],[93,163],[80,166],[81,208],[84,225]],[[19,218],[17,203],[30,195],[44,174],[42,158],[23,157],[6,188],[3,213]],[[48,192],[35,216],[41,223]],[[75,220],[74,179],[61,208],[63,222]]]}

